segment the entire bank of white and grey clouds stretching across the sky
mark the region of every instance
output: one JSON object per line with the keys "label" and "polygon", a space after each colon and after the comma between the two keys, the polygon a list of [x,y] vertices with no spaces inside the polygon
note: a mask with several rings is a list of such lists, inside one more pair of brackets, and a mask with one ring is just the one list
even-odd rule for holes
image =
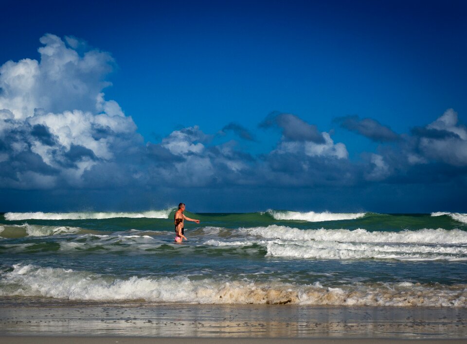
{"label": "entire bank of white and grey clouds stretching across the sky", "polygon": [[230,131],[261,144],[235,122],[215,134],[194,126],[145,142],[120,105],[106,100],[106,78],[115,67],[108,52],[53,34],[40,43],[39,61],[0,67],[2,189],[349,188],[467,181],[467,128],[453,109],[402,134],[370,118],[335,119],[341,130],[379,142],[377,152],[361,152],[357,159],[349,159],[349,148],[335,142],[332,131],[280,112],[258,124],[268,135],[280,133],[275,147],[260,155],[242,149],[239,141],[222,141]]}

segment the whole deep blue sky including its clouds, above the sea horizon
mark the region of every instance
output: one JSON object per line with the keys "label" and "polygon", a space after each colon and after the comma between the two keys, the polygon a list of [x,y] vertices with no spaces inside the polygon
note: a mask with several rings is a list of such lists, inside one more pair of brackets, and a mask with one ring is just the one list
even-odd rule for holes
{"label": "whole deep blue sky including its clouds, above the sea horizon", "polygon": [[0,211],[467,212],[465,1],[1,0]]}

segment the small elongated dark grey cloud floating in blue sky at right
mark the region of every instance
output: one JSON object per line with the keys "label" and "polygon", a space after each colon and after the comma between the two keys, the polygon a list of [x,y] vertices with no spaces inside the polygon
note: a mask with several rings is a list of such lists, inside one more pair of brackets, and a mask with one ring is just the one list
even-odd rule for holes
{"label": "small elongated dark grey cloud floating in blue sky at right", "polygon": [[359,116],[345,116],[335,119],[342,128],[363,135],[376,142],[395,141],[399,136],[386,125],[371,118],[360,119]]}

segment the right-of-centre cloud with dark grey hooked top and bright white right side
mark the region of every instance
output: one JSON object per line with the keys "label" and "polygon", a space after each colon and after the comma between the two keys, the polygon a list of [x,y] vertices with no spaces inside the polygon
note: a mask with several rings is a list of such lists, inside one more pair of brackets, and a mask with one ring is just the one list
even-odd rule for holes
{"label": "right-of-centre cloud with dark grey hooked top and bright white right side", "polygon": [[262,178],[270,185],[346,185],[355,178],[357,171],[345,145],[335,143],[315,125],[295,115],[273,113],[260,126],[282,129],[276,148],[260,166]]}

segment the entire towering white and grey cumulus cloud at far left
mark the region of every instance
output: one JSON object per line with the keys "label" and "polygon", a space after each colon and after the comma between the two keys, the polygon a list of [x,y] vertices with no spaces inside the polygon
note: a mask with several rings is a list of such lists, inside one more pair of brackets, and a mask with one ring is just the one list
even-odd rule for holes
{"label": "entire towering white and grey cumulus cloud at far left", "polygon": [[[107,52],[78,53],[80,41],[46,34],[40,61],[0,67],[3,185],[82,185],[82,175],[140,142],[136,125],[102,89],[113,68]],[[42,176],[42,178],[41,178]]]}

